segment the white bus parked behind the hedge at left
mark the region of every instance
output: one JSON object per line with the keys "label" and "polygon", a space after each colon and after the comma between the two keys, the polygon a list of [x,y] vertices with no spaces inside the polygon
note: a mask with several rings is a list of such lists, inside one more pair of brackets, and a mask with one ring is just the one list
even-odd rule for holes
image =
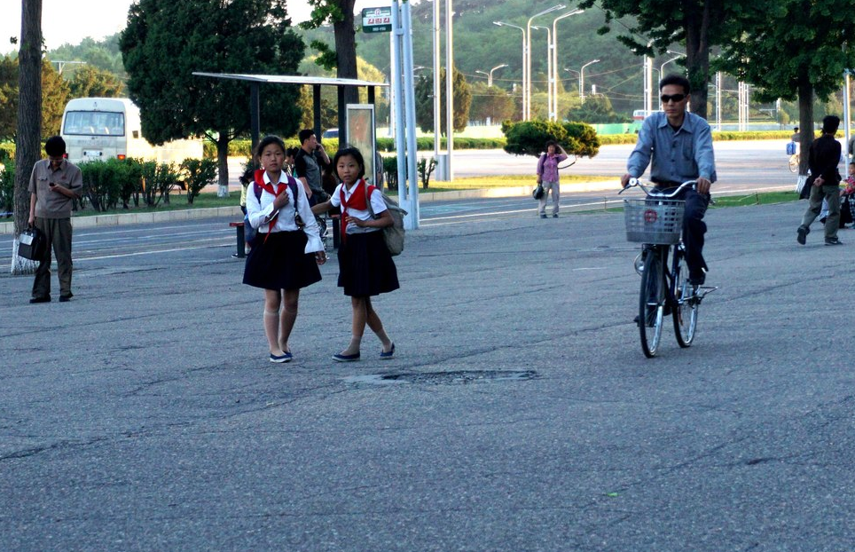
{"label": "white bus parked behind the hedge at left", "polygon": [[180,163],[201,159],[201,140],[175,140],[152,146],[143,138],[139,108],[127,98],[72,99],[62,114],[60,135],[73,163],[137,157]]}

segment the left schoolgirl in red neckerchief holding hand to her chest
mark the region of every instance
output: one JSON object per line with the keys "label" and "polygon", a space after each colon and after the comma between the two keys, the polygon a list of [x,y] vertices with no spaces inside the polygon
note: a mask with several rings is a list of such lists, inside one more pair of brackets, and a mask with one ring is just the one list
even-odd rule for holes
{"label": "left schoolgirl in red neckerchief holding hand to her chest", "polygon": [[271,362],[290,362],[294,357],[288,338],[300,288],[320,281],[318,264],[326,263],[326,252],[303,186],[286,173],[282,139],[265,137],[256,152],[262,169],[248,186],[247,216],[257,234],[243,283],[264,289],[264,335]]}

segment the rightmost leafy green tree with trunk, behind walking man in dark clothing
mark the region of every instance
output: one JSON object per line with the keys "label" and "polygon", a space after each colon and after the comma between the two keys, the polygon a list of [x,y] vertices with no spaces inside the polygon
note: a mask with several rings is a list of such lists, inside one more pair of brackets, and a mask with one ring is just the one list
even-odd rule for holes
{"label": "rightmost leafy green tree with trunk, behind walking man in dark clothing", "polygon": [[[812,129],[814,95],[822,100],[838,91],[843,71],[855,67],[851,2],[846,0],[776,0],[747,7],[736,22],[741,39],[726,44],[719,67],[759,87],[760,101],[798,99],[799,126]],[[801,133],[802,151],[813,139]],[[806,155],[803,155],[802,174]]]}

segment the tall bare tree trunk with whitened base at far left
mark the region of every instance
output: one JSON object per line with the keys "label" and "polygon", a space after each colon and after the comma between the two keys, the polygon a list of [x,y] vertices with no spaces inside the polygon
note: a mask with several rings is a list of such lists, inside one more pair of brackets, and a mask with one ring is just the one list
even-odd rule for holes
{"label": "tall bare tree trunk with whitened base at far left", "polygon": [[[42,155],[42,0],[21,0],[18,52],[18,128],[15,137],[15,236],[27,228],[30,172]],[[12,274],[32,274],[35,263],[18,256],[12,242]]]}

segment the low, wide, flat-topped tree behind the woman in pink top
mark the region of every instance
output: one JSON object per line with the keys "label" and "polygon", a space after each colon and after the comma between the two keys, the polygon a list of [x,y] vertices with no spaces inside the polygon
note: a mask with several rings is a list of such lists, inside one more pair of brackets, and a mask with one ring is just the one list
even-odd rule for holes
{"label": "low, wide, flat-topped tree behind the woman in pink top", "polygon": [[507,144],[505,151],[514,155],[539,156],[546,142],[555,140],[570,155],[593,157],[600,153],[600,138],[584,122],[523,121],[502,123]]}

